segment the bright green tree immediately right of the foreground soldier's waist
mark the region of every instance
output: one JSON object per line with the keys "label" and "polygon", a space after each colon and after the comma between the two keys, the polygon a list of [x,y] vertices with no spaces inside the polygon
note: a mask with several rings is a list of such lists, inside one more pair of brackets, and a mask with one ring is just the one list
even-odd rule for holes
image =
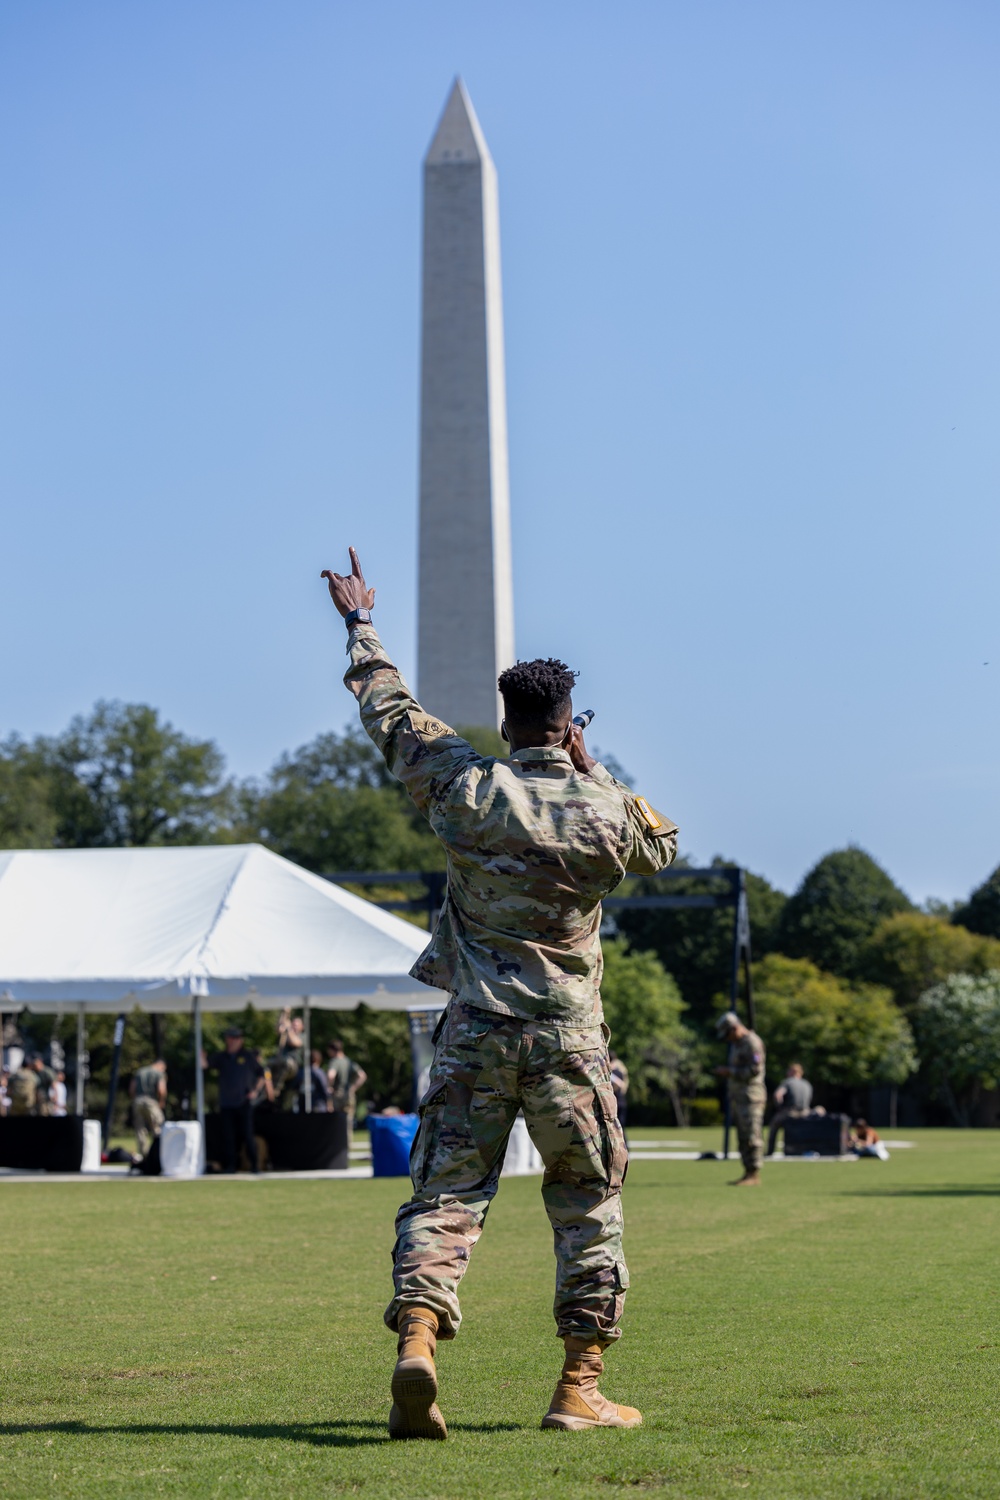
{"label": "bright green tree immediately right of the foreground soldier's waist", "polygon": [[699,1082],[697,1038],[681,1020],[684,1000],[655,952],[636,952],[621,938],[604,942],[601,981],[612,1047],[628,1068],[633,1104],[670,1098],[684,1125],[682,1095]]}

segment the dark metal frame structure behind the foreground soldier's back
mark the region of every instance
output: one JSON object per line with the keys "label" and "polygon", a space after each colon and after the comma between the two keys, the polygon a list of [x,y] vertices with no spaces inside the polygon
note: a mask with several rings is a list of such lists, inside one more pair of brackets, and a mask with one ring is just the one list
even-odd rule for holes
{"label": "dark metal frame structure behind the foreground soldier's back", "polygon": [[[337,885],[411,885],[421,884],[427,888],[426,896],[397,897],[375,902],[376,906],[393,912],[427,912],[430,926],[441,910],[444,892],[448,882],[445,870],[336,870],[327,876]],[[739,970],[744,970],[747,987],[747,1020],[751,1030],[756,1029],[754,992],[750,974],[750,908],[747,904],[747,872],[739,866],[714,864],[693,868],[690,866],[670,866],[654,876],[643,876],[643,880],[724,880],[727,891],[706,896],[609,896],[603,906],[609,912],[633,910],[679,910],[679,909],[717,909],[720,906],[733,908],[733,950],[729,975],[730,1008],[739,1014]],[[729,1156],[730,1106],[729,1083],[726,1084],[726,1122],[723,1128],[723,1155]],[[715,1155],[712,1152],[711,1155]]]}

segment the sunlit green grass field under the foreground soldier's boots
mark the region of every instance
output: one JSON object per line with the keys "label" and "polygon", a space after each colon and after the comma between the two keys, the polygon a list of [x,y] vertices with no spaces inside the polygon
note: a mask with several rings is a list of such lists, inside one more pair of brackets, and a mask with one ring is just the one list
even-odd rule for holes
{"label": "sunlit green grass field under the foreground soldier's boots", "polygon": [[772,1166],[762,1191],[633,1161],[604,1380],[633,1432],[538,1430],[549,1230],[538,1179],[504,1182],[441,1352],[448,1443],[385,1436],[402,1180],[0,1182],[0,1488],[993,1500],[1000,1134],[909,1138],[886,1164]]}

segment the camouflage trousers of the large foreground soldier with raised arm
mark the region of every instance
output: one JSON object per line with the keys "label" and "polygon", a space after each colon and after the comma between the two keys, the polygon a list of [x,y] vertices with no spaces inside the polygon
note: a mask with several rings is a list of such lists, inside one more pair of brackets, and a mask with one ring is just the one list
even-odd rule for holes
{"label": "camouflage trousers of the large foreground soldier with raised arm", "polygon": [[507,1137],[523,1110],[544,1162],[541,1197],[556,1256],[558,1334],[612,1342],[628,1287],[622,1258],[627,1152],[606,1030],[498,1016],[451,1000],[435,1047],[409,1158],[414,1196],[396,1218],[396,1296],[432,1308],[439,1338],[462,1322],[459,1282],[496,1194]]}

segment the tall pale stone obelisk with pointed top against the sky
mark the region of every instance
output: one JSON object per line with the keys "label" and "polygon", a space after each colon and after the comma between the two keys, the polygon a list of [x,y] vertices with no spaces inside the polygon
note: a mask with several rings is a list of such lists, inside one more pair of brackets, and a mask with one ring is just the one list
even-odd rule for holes
{"label": "tall pale stone obelisk with pointed top against the sky", "polygon": [[420,699],[496,724],[514,660],[496,170],[462,80],[424,159]]}

